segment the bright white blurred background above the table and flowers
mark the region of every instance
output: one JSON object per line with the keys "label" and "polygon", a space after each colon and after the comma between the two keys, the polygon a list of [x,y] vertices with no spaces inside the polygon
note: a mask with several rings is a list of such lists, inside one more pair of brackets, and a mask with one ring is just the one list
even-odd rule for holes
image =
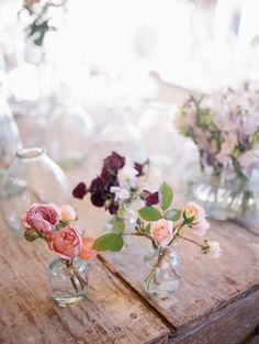
{"label": "bright white blurred background above the table and flowers", "polygon": [[192,145],[177,104],[259,79],[258,13],[258,0],[1,0],[0,166],[36,145],[64,167],[115,149],[177,170]]}

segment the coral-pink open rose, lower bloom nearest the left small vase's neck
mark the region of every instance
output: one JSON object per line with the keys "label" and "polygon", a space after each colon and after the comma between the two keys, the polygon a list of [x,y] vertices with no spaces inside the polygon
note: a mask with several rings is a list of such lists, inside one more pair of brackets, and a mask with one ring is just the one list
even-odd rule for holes
{"label": "coral-pink open rose, lower bloom nearest the left small vase's neck", "polygon": [[64,259],[72,259],[82,249],[82,237],[79,228],[68,225],[55,232],[49,242],[49,248]]}

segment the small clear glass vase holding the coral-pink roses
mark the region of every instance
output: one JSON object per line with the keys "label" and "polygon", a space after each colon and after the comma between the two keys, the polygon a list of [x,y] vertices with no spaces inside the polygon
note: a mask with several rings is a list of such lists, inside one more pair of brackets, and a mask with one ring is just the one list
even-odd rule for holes
{"label": "small clear glass vase holding the coral-pink roses", "polygon": [[54,259],[48,266],[53,299],[63,307],[80,301],[88,292],[88,263],[79,258]]}

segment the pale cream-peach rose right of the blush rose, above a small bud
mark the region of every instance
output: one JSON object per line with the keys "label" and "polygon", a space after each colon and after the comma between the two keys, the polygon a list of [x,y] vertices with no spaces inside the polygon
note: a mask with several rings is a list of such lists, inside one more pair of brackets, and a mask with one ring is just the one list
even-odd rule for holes
{"label": "pale cream-peach rose right of the blush rose, above a small bud", "polygon": [[210,229],[210,223],[205,219],[206,214],[203,208],[195,202],[188,202],[183,209],[183,213],[187,219],[193,218],[192,223],[190,223],[193,233],[199,236],[205,235]]}

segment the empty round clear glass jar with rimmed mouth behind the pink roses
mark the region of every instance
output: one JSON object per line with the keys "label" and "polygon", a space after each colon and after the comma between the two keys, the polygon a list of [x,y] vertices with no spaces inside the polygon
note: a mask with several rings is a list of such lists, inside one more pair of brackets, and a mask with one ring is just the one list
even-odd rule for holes
{"label": "empty round clear glass jar with rimmed mouth behind the pink roses", "polygon": [[41,147],[16,153],[1,182],[1,211],[11,230],[24,232],[20,218],[32,203],[69,201],[69,182],[64,171]]}

